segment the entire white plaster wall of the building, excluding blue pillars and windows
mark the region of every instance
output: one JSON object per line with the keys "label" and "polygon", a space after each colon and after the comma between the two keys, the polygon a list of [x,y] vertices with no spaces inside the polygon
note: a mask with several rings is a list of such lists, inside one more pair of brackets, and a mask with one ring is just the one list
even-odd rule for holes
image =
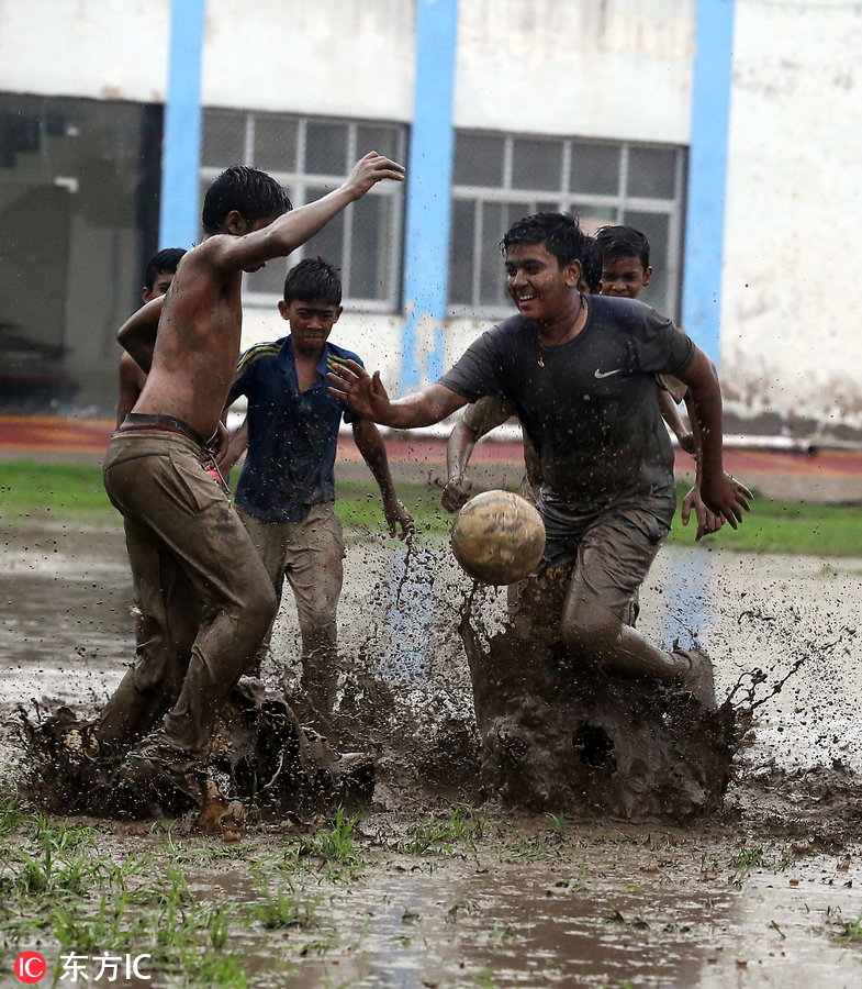
{"label": "entire white plaster wall of the building, excluding blue pillars and windows", "polygon": [[[686,144],[695,12],[461,0],[455,125]],[[169,0],[0,0],[0,90],[160,102],[169,16]],[[203,102],[410,123],[415,27],[413,0],[208,0]],[[862,430],[860,51],[859,5],[736,0],[720,356],[741,423]],[[249,309],[247,342],[271,320]],[[450,320],[445,362],[488,325]],[[337,337],[395,382],[402,327],[346,314]]]}

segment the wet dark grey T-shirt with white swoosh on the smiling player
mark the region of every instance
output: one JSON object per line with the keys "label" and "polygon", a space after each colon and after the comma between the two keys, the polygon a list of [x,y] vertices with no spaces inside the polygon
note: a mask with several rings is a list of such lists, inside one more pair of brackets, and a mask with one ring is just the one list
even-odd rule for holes
{"label": "wet dark grey T-shirt with white swoosh on the smiling player", "polygon": [[590,296],[574,340],[545,347],[516,315],[483,333],[440,378],[475,401],[511,401],[540,460],[544,492],[579,512],[628,498],[673,499],[673,451],[657,374],[684,370],[694,344],[634,299]]}

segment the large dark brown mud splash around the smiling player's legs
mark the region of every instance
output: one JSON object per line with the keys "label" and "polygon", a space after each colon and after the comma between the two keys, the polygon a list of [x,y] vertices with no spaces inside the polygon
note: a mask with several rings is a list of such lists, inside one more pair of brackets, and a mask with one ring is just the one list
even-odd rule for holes
{"label": "large dark brown mud splash around the smiling player's legs", "polygon": [[482,782],[539,811],[685,821],[721,805],[748,723],[680,691],[575,662],[559,638],[571,567],[523,581],[517,616],[494,635],[459,631],[482,740]]}

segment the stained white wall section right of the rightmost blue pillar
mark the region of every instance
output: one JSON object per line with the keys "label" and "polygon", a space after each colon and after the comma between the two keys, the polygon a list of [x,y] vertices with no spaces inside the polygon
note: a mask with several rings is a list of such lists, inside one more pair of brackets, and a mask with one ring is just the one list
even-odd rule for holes
{"label": "stained white wall section right of the rightmost blue pillar", "polygon": [[730,407],[862,429],[862,9],[737,2],[723,288]]}

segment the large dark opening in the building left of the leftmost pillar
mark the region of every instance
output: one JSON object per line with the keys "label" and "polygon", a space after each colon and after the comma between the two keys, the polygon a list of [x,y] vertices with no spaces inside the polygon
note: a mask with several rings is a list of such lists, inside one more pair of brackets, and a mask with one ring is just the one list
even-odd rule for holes
{"label": "large dark opening in the building left of the leftmost pillar", "polygon": [[114,414],[160,144],[157,105],[0,93],[0,408]]}

